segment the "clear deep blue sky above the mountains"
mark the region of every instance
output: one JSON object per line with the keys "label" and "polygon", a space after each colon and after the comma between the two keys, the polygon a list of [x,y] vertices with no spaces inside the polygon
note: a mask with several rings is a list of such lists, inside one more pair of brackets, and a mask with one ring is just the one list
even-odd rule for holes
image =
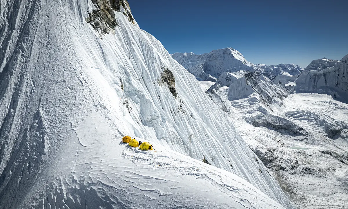
{"label": "clear deep blue sky above the mountains", "polygon": [[169,53],[232,47],[255,64],[306,67],[348,54],[348,0],[128,0]]}

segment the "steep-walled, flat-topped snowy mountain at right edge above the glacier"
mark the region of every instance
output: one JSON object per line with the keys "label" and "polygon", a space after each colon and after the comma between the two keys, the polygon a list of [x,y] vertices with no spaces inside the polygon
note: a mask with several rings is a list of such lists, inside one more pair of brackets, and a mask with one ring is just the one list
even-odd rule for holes
{"label": "steep-walled, flat-topped snowy mountain at right edge above the glacier", "polygon": [[348,102],[348,64],[337,60],[313,60],[296,79],[296,92],[325,93]]}

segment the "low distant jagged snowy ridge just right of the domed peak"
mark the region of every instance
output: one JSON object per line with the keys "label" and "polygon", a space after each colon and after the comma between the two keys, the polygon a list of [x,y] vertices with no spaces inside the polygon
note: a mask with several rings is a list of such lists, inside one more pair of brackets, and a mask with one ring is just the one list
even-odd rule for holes
{"label": "low distant jagged snowy ridge just right of the domed peak", "polygon": [[272,78],[278,75],[297,76],[303,71],[303,68],[301,68],[299,65],[292,63],[278,65],[258,64],[256,67],[261,69],[262,73],[267,73]]}

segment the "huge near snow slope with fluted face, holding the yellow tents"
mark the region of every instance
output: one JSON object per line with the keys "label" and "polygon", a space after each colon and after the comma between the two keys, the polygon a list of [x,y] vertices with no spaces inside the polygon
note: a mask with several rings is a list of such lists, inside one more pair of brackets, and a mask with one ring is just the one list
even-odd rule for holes
{"label": "huge near snow slope with fluted face, holding the yellow tents", "polygon": [[101,35],[93,3],[1,0],[0,208],[294,208],[161,43],[127,12]]}

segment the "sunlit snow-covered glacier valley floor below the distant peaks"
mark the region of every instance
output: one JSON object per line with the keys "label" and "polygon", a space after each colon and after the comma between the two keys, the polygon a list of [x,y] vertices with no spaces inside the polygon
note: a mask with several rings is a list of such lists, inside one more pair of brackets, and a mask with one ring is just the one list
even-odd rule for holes
{"label": "sunlit snow-covered glacier valley floor below the distant peaks", "polygon": [[[270,173],[298,208],[348,208],[348,130],[330,139],[327,129],[348,127],[348,104],[326,94],[291,94],[272,114],[299,125],[309,136],[291,136],[251,124],[262,115],[251,98],[231,102],[229,118],[247,144],[259,152]],[[262,109],[262,108],[261,108]]]}

